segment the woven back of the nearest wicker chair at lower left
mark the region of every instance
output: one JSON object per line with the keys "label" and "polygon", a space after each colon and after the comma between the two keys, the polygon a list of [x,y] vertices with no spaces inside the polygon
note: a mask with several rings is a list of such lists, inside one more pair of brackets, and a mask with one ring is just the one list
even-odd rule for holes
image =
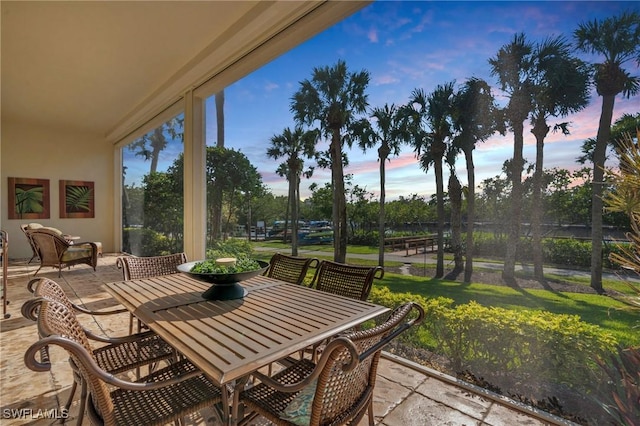
{"label": "woven back of the nearest wicker chair at lower left", "polygon": [[42,298],[38,313],[38,333],[42,337],[57,336],[71,342],[61,346],[69,354],[72,368],[89,385],[93,407],[103,418],[104,424],[115,425],[109,388],[87,368],[87,364],[93,363],[99,369],[89,339],[73,311],[55,300]]}

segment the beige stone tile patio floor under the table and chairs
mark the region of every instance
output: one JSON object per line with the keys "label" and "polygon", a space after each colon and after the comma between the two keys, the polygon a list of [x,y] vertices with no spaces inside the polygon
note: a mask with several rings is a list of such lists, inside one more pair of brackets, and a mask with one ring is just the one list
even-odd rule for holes
{"label": "beige stone tile patio floor under the table and chairs", "polygon": [[[97,271],[85,265],[63,270],[62,277],[53,268],[43,268],[38,276],[58,282],[76,303],[91,310],[118,306],[101,284],[117,281],[122,273],[115,266],[117,255],[105,253]],[[49,425],[51,416],[61,414],[73,383],[66,353],[51,350],[50,372],[34,372],[24,365],[27,347],[37,339],[35,324],[20,313],[22,303],[31,297],[26,284],[38,268],[26,260],[10,263],[7,313],[0,321],[0,425]],[[108,336],[126,334],[128,314],[92,317],[81,315],[85,327]],[[79,411],[76,392],[67,422],[76,423]],[[374,393],[375,424],[385,426],[426,425],[550,425],[564,424],[547,413],[531,410],[513,401],[475,388],[455,378],[383,353]],[[256,424],[265,424],[264,419]],[[218,424],[213,411],[186,419],[187,425]],[[85,418],[83,424],[89,424]],[[368,424],[365,417],[362,425]]]}

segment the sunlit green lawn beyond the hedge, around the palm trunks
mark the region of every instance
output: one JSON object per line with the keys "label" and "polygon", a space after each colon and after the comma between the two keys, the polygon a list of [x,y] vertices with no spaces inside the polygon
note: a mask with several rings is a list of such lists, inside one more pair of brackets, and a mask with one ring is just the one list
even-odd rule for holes
{"label": "sunlit green lawn beyond the hedge, around the palm trunks", "polygon": [[[254,243],[255,246],[269,251],[256,251],[256,257],[269,260],[276,251],[291,252],[290,245],[281,242],[267,241]],[[300,256],[304,252],[320,251],[327,255],[317,255],[320,259],[333,259],[332,246],[305,246],[300,247]],[[362,259],[351,258],[349,255],[377,254],[375,247],[349,246],[347,259],[351,263],[363,265],[377,265],[377,258]],[[399,266],[401,262],[385,262],[387,267]],[[311,272],[312,274],[313,272]],[[589,286],[589,278],[559,277],[547,275],[548,279],[575,283]],[[543,310],[556,314],[577,315],[583,321],[598,325],[612,333],[616,339],[625,346],[640,346],[640,316],[637,310],[630,309],[627,305],[612,297],[587,293],[554,292],[542,289],[515,289],[507,286],[489,285],[480,283],[464,284],[458,281],[436,280],[424,277],[414,277],[394,273],[385,273],[382,281],[375,282],[376,286],[386,286],[392,292],[412,293],[427,298],[448,297],[456,304],[464,304],[476,301],[485,306],[496,306],[505,309],[532,309]],[[603,280],[607,289],[629,294],[628,286],[621,280]]]}

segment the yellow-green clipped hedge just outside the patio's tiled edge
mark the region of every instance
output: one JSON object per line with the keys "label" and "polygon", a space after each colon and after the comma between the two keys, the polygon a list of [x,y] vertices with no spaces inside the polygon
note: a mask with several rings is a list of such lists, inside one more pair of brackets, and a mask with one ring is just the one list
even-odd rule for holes
{"label": "yellow-green clipped hedge just outside the patio's tiled edge", "polygon": [[560,383],[590,389],[595,359],[615,350],[617,342],[575,315],[514,311],[476,302],[453,306],[446,298],[424,299],[374,287],[370,300],[393,308],[413,300],[426,319],[405,341],[446,356],[455,372],[477,377],[500,375],[516,382]]}

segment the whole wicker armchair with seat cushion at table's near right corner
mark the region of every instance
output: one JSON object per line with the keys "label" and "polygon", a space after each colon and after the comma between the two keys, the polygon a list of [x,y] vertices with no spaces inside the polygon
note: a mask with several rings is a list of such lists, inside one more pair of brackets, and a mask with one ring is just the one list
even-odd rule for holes
{"label": "whole wicker armchair with seat cushion at table's near right corner", "polygon": [[[412,310],[417,316],[410,315]],[[396,308],[381,325],[332,339],[318,363],[302,359],[273,377],[254,373],[261,383],[240,393],[247,415],[276,425],[355,425],[365,413],[374,424],[373,390],[382,348],[424,319],[420,305]]]}

